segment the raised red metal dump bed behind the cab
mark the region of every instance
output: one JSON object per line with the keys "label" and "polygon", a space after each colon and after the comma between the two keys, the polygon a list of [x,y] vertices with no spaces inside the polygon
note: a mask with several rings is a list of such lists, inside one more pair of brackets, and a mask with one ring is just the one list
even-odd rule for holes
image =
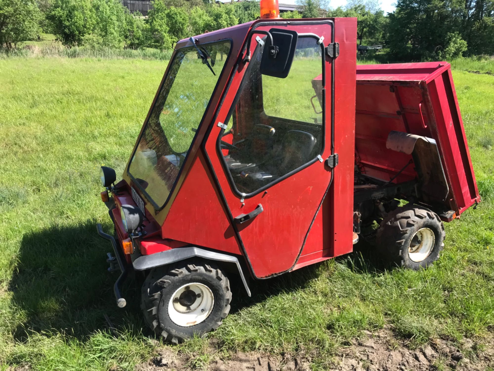
{"label": "raised red metal dump bed behind the cab", "polygon": [[[356,161],[370,176],[389,180],[410,156],[386,148],[390,131],[436,140],[450,193],[445,207],[461,214],[480,201],[447,62],[357,66]],[[413,168],[397,182],[415,177]]]}

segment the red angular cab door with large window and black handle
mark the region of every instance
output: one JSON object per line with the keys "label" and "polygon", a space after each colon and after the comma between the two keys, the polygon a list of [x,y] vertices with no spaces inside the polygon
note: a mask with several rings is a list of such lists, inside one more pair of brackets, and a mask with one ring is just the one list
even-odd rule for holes
{"label": "red angular cab door with large window and black handle", "polygon": [[[219,192],[256,278],[286,272],[300,256],[332,181],[334,23],[259,22],[205,142]],[[298,33],[286,78],[262,75],[266,31]],[[247,53],[245,53],[247,55]],[[240,59],[239,59],[240,60]],[[321,250],[323,249],[321,241]]]}

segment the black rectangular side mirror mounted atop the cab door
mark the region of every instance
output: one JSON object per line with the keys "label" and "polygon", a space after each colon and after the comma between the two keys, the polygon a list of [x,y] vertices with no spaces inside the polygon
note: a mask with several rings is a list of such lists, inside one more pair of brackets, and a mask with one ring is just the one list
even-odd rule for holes
{"label": "black rectangular side mirror mounted atop the cab door", "polygon": [[266,38],[259,69],[263,75],[284,79],[290,72],[298,34],[296,31],[278,28],[272,28],[269,33],[273,37],[273,45],[269,45],[269,39]]}

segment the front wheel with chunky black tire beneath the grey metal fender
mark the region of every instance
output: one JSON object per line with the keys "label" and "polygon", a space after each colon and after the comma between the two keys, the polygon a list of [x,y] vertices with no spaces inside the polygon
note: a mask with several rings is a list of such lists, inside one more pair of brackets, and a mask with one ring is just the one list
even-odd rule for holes
{"label": "front wheel with chunky black tire beneath the grey metal fender", "polygon": [[209,262],[179,262],[151,270],[142,285],[146,324],[165,341],[179,343],[218,328],[230,312],[230,282]]}

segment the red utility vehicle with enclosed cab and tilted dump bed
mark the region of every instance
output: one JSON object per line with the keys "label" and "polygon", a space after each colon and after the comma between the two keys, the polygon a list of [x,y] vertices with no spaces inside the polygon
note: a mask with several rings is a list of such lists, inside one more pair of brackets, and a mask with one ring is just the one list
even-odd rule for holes
{"label": "red utility vehicle with enclosed cab and tilted dump bed", "polygon": [[250,295],[248,277],[350,253],[374,221],[384,258],[438,259],[443,222],[480,201],[450,65],[356,66],[356,26],[260,19],[177,43],[123,180],[101,170],[119,307],[142,272],[146,323],[204,334],[231,275]]}

